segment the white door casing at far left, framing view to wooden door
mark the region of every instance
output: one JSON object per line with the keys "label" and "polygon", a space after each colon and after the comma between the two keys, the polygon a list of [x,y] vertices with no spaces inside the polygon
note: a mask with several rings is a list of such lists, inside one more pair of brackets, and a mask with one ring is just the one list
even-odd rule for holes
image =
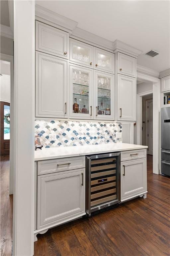
{"label": "white door casing at far left, framing view to wooden door", "polygon": [[10,99],[10,173],[9,194],[14,190],[14,56],[0,54],[0,59],[10,62],[11,99]]}

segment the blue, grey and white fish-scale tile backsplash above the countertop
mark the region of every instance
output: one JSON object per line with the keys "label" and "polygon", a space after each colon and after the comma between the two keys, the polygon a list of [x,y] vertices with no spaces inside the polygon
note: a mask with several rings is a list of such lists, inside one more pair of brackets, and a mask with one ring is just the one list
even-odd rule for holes
{"label": "blue, grey and white fish-scale tile backsplash above the countertop", "polygon": [[[56,140],[49,140],[49,133]],[[96,145],[122,142],[121,123],[36,120],[35,135],[39,135],[44,148]],[[119,134],[120,135],[120,134]]]}

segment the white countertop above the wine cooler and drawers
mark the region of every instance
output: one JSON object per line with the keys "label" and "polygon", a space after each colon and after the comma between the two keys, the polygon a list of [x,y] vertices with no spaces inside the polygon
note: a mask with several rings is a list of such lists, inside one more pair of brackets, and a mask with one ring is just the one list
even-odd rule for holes
{"label": "white countertop above the wine cooler and drawers", "polygon": [[43,148],[35,151],[35,161],[48,160],[55,158],[85,156],[92,154],[110,153],[118,151],[127,151],[134,149],[143,149],[147,146],[134,145],[128,143],[110,143],[101,145],[87,145],[87,146],[70,146],[58,148]]}

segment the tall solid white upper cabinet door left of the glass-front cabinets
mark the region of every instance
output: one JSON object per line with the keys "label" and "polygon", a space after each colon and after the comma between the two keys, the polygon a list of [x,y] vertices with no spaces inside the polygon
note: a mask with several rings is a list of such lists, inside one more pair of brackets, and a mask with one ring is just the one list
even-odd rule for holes
{"label": "tall solid white upper cabinet door left of the glass-front cabinets", "polygon": [[36,117],[67,117],[68,61],[36,52]]}

